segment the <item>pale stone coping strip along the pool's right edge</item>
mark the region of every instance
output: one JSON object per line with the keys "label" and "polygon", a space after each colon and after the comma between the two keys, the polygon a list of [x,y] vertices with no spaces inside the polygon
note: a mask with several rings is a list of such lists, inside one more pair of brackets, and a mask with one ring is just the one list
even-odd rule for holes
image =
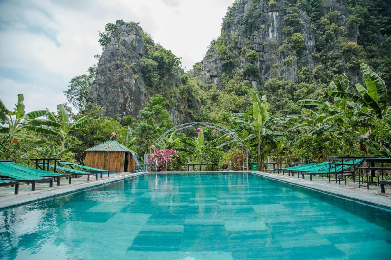
{"label": "pale stone coping strip along the pool's right edge", "polygon": [[325,192],[327,194],[342,197],[344,199],[352,199],[358,203],[366,203],[366,204],[369,204],[370,206],[380,206],[380,207],[386,208],[387,210],[391,210],[391,200],[381,198],[381,197],[375,198],[375,195],[368,196],[368,194],[356,194],[357,192],[354,192],[354,190],[351,190],[351,191],[346,190],[345,191],[341,188],[332,187],[329,185],[325,185],[323,183],[316,183],[313,181],[301,180],[301,179],[296,180],[296,179],[288,178],[288,177],[285,177],[282,175],[275,175],[273,173],[266,173],[266,172],[262,172],[262,171],[248,171],[248,172],[253,173],[255,175],[263,176],[266,178],[271,178],[273,180],[277,180],[280,182],[289,183],[291,185],[305,187],[307,189],[311,189],[314,191]]}

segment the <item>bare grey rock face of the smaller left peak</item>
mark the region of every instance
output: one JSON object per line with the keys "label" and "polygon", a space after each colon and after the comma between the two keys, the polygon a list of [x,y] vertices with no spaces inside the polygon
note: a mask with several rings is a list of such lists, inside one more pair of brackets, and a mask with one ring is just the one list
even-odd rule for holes
{"label": "bare grey rock face of the smaller left peak", "polygon": [[110,43],[99,59],[90,101],[106,108],[107,116],[137,116],[145,106],[147,94],[140,75],[140,58],[145,52],[142,29],[135,23],[118,20]]}

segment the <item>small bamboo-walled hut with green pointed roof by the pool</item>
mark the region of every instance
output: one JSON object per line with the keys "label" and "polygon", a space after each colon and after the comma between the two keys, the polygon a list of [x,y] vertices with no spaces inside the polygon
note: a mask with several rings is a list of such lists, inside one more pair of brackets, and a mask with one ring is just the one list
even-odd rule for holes
{"label": "small bamboo-walled hut with green pointed roof by the pool", "polygon": [[136,169],[135,152],[111,139],[86,151],[86,165],[110,172],[133,172]]}

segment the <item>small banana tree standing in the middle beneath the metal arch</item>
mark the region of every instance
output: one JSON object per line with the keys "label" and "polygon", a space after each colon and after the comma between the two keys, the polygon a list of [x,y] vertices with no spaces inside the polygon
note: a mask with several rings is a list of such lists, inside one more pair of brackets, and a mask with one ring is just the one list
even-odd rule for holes
{"label": "small banana tree standing in the middle beneath the metal arch", "polygon": [[177,148],[178,151],[183,151],[188,155],[195,155],[199,160],[199,170],[201,171],[201,163],[203,160],[204,152],[217,148],[214,146],[218,141],[221,141],[223,137],[218,137],[212,141],[206,143],[204,140],[204,130],[201,129],[197,137],[185,138],[182,140],[185,144],[185,148]]}

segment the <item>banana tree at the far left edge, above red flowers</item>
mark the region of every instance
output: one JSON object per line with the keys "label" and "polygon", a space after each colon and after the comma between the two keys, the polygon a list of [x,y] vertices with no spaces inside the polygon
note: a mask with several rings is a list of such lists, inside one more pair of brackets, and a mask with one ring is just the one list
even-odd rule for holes
{"label": "banana tree at the far left edge, above red flowers", "polygon": [[18,94],[18,103],[15,104],[14,111],[8,110],[2,100],[0,100],[0,133],[8,134],[7,146],[10,147],[15,139],[15,135],[29,125],[41,125],[44,119],[38,119],[46,114],[46,110],[36,110],[26,113],[23,104],[23,95]]}

